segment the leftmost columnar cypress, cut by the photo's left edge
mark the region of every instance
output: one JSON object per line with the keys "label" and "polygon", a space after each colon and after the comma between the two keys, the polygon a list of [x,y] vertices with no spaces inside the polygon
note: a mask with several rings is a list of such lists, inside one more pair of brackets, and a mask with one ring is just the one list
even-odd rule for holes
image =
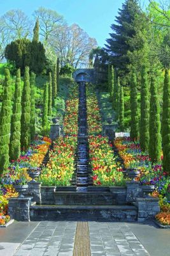
{"label": "leftmost columnar cypress, cut by the photo's left edge", "polygon": [[10,71],[5,70],[3,102],[0,112],[0,173],[9,166],[9,143],[11,122],[11,78]]}

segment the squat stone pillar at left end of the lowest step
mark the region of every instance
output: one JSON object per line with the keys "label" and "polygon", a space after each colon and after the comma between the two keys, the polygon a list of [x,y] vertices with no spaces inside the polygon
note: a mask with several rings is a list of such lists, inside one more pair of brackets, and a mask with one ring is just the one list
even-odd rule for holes
{"label": "squat stone pillar at left end of the lowest step", "polygon": [[30,221],[29,207],[31,197],[12,197],[8,204],[8,214],[11,219],[17,221]]}

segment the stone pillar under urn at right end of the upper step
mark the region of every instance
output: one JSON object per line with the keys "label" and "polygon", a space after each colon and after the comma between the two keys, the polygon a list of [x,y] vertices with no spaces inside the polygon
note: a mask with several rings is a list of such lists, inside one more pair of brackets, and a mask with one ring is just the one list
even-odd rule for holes
{"label": "stone pillar under urn at right end of the upper step", "polygon": [[127,203],[136,202],[136,198],[138,198],[142,193],[140,182],[131,180],[131,181],[127,181],[126,184],[127,184],[126,202]]}

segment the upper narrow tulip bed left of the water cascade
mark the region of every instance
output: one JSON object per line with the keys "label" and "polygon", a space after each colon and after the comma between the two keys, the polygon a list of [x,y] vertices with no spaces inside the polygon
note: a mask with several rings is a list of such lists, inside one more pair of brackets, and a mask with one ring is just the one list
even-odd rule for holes
{"label": "upper narrow tulip bed left of the water cascade", "polygon": [[66,135],[78,133],[78,85],[69,88],[69,100],[66,101],[63,125]]}

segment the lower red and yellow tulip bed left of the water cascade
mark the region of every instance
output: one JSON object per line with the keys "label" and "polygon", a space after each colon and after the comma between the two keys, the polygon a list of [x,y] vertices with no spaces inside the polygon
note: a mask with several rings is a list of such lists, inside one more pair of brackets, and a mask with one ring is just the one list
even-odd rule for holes
{"label": "lower red and yellow tulip bed left of the water cascade", "polygon": [[43,168],[39,181],[43,186],[69,186],[74,173],[76,136],[58,138],[50,152],[50,161]]}

